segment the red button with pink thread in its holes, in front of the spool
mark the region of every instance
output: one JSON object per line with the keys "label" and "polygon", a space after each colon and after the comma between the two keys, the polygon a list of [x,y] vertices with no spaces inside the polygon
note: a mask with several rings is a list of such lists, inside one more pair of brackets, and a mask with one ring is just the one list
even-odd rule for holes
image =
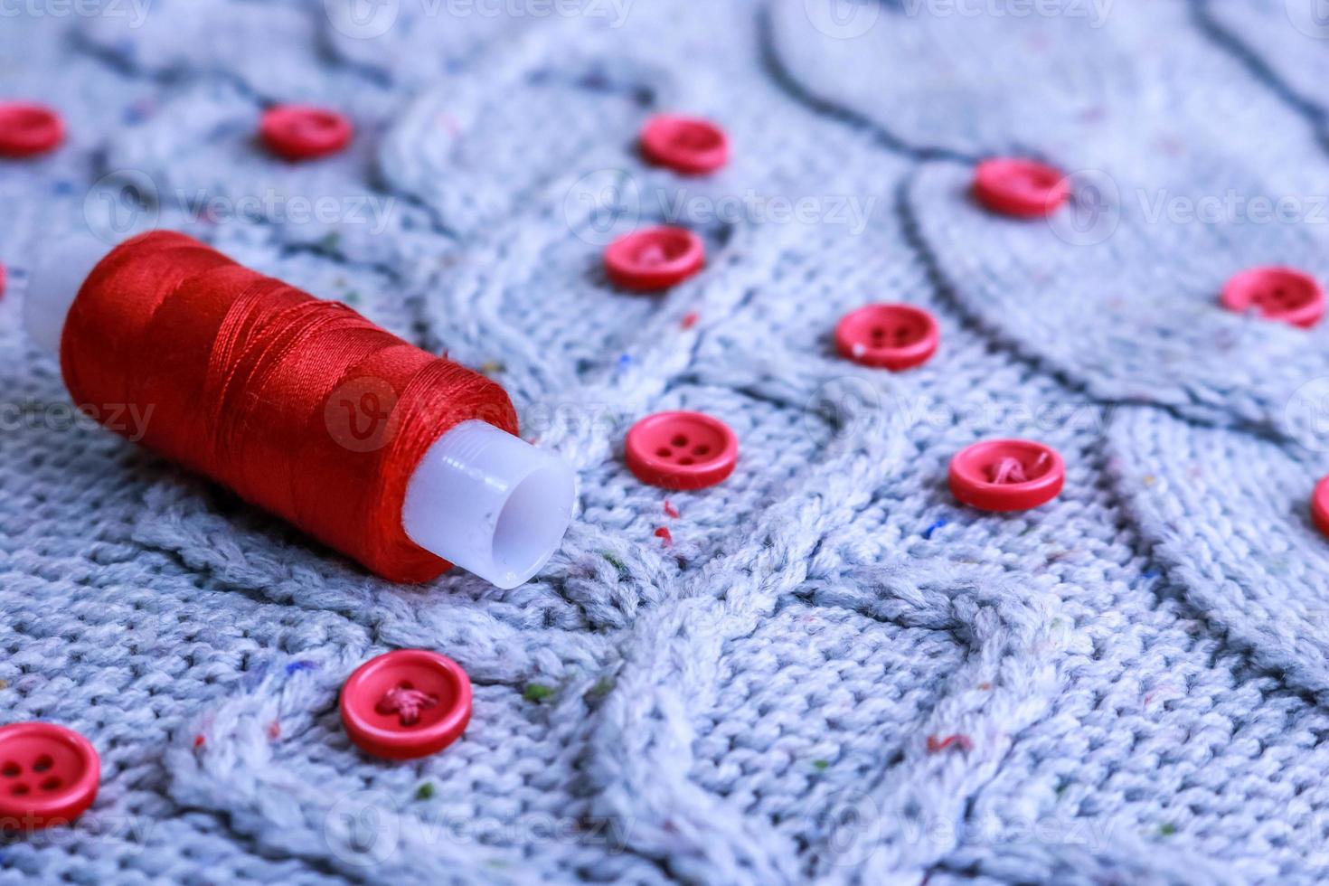
{"label": "red button with pink thread in its holes, in front of the spool", "polygon": [[375,757],[439,753],[470,723],[470,679],[428,650],[380,655],[342,687],[342,723],[351,741]]}

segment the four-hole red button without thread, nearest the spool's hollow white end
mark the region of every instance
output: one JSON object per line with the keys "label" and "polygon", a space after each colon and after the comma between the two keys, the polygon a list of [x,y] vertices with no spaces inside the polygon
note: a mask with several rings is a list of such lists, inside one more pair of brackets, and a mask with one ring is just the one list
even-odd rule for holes
{"label": "four-hole red button without thread, nearest the spool's hollow white end", "polygon": [[734,473],[739,438],[699,412],[659,412],[627,432],[627,466],[643,484],[706,489]]}

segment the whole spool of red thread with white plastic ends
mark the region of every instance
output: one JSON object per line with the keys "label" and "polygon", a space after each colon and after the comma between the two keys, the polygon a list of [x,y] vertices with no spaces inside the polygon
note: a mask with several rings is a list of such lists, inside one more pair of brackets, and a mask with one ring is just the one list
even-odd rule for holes
{"label": "whole spool of red thread with white plastic ends", "polygon": [[25,306],[94,417],[392,580],[514,587],[558,547],[571,470],[493,381],[183,234],[100,251],[48,254]]}

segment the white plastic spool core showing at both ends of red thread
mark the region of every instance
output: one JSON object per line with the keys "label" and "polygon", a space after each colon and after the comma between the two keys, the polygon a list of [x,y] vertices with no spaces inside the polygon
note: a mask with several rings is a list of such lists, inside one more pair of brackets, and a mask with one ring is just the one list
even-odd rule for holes
{"label": "white plastic spool core showing at both ends of red thread", "polygon": [[[28,275],[24,327],[60,353],[65,317],[108,250],[72,239]],[[549,562],[571,522],[575,482],[557,456],[484,421],[464,421],[425,450],[407,482],[401,527],[420,547],[508,590]]]}

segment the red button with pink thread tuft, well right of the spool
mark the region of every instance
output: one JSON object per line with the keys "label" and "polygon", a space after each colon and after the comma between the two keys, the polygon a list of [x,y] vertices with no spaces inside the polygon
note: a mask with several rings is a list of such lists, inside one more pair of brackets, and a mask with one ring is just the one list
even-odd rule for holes
{"label": "red button with pink thread tuft, well right of the spool", "polygon": [[950,491],[982,510],[1027,510],[1062,491],[1066,465],[1031,440],[987,440],[950,460]]}

